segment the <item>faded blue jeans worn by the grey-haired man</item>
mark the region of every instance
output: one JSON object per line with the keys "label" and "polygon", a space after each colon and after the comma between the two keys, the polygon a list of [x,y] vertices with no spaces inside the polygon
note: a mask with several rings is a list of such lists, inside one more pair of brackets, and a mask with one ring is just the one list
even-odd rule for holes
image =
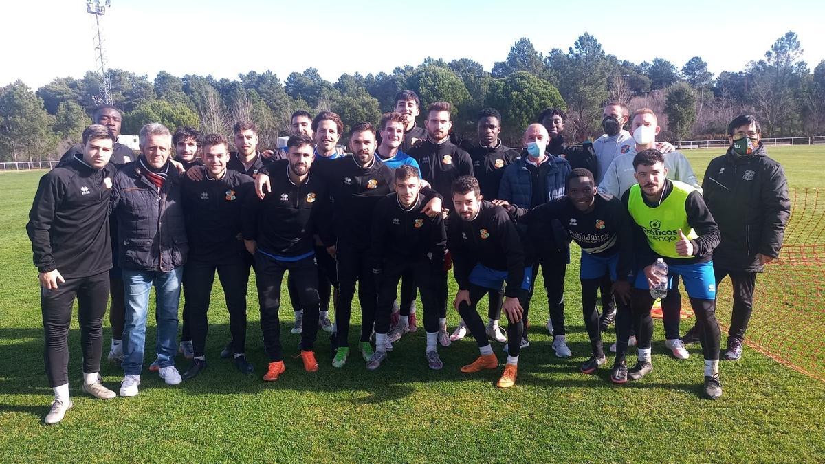
{"label": "faded blue jeans worn by the grey-haired man", "polygon": [[174,366],[177,353],[177,306],[181,301],[183,268],[169,272],[123,269],[125,324],[123,327],[123,372],[138,376],[143,369],[146,346],[146,316],[149,291],[155,287],[155,320],[158,340],[155,353],[160,367]]}

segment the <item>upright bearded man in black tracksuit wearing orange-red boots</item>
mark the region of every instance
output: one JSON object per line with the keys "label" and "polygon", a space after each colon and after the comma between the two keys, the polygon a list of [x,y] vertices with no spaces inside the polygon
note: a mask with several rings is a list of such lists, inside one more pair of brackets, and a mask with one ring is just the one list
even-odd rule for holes
{"label": "upright bearded man in black tracksuit wearing orange-red boots", "polygon": [[[250,196],[243,218],[243,239],[255,255],[258,300],[269,366],[265,381],[276,381],[285,372],[281,349],[281,283],[290,272],[303,308],[300,357],[307,372],[318,370],[313,351],[318,333],[318,269],[315,267],[314,232],[329,211],[323,178],[310,173],[314,162],[313,141],[296,134],[287,141],[288,160],[267,169],[271,190],[263,200]],[[326,253],[326,251],[324,251]]]}

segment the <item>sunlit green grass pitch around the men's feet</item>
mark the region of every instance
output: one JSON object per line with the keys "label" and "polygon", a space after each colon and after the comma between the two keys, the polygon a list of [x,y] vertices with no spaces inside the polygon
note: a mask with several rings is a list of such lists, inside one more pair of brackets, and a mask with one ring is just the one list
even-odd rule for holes
{"label": "sunlit green grass pitch around the men's feet", "polygon": [[[825,147],[770,151],[785,164],[791,187],[819,187]],[[719,153],[696,150],[687,156],[701,176]],[[367,372],[357,356],[333,369],[328,337],[322,335],[318,372],[304,372],[290,358],[281,380],[266,384],[260,380],[266,361],[254,286],[247,353],[257,372],[241,376],[218,357],[229,326],[216,288],[208,370],[176,387],[144,371],[135,398],[101,401],[82,395],[75,320],[69,366],[75,406],[62,424],[45,427],[41,419],[52,392],[43,372],[36,270],[24,230],[42,174],[0,174],[0,462],[822,462],[825,456],[825,383],[750,347],[741,361],[720,367],[724,396],[718,401],[700,397],[700,348],[692,347],[686,361],[667,356],[658,322],[655,369],[643,381],[617,387],[606,368],[595,376],[578,372],[589,343],[577,255],[566,284],[573,357],[554,357],[544,330],[546,300],[539,297],[530,311],[530,348],[521,355],[518,385],[507,391],[493,386],[500,372],[458,371],[478,353],[469,339],[440,348],[445,368],[431,372],[421,329],[397,343],[378,372]],[[790,310],[808,309],[792,305]],[[811,311],[821,320],[821,309]],[[284,313],[288,319],[290,308]],[[153,341],[149,319],[147,339]],[[450,327],[457,320],[450,310]],[[108,327],[104,330],[107,349]],[[281,333],[286,353],[296,351],[297,336],[286,324]],[[822,333],[811,334],[819,346]],[[614,338],[610,329],[605,341]],[[494,346],[503,361],[501,348]],[[122,376],[120,367],[106,362],[101,374],[111,388]]]}

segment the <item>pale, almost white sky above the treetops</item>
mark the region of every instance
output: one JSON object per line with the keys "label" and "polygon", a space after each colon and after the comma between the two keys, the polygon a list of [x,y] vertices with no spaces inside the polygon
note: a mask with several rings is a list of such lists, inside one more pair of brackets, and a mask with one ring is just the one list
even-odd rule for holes
{"label": "pale, almost white sky above the treetops", "polygon": [[[414,6],[413,6],[414,5]],[[584,31],[609,54],[635,63],[657,56],[681,68],[695,55],[721,71],[761,59],[786,31],[799,35],[813,69],[825,59],[825,2],[509,2],[479,0],[112,0],[105,21],[110,67],[235,78],[270,69],[282,80],[315,67],[391,72],[427,56],[471,58],[491,69],[520,37],[536,49],[567,50]],[[92,15],[84,0],[4,1],[0,85],[32,88],[94,68]],[[13,46],[12,46],[13,45]]]}

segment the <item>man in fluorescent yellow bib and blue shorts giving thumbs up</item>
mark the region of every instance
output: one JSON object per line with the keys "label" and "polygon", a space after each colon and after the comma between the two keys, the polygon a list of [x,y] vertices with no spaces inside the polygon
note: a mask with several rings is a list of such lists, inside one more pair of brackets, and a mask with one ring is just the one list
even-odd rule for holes
{"label": "man in fluorescent yellow bib and blue shorts giving thumbs up", "polygon": [[[653,370],[650,343],[654,298],[650,288],[659,277],[653,273],[658,258],[667,263],[667,286],[672,277],[685,282],[691,306],[701,324],[701,345],[705,355],[705,395],[715,400],[722,395],[719,381],[719,324],[716,322],[713,251],[721,235],[701,193],[686,183],[667,180],[662,152],[645,149],[633,159],[636,181],[622,201],[633,218],[636,244],[636,273],[633,291],[629,283],[617,282],[617,291],[631,295],[634,329],[639,343],[639,361],[628,369],[629,380],[639,380]],[[618,354],[618,353],[617,353]]]}

